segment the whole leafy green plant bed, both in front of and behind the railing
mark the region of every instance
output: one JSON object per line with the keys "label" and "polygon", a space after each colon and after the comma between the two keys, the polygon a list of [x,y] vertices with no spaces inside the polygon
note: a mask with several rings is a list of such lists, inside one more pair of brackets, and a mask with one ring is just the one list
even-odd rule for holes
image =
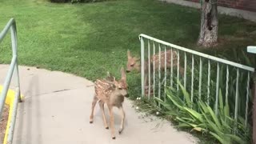
{"label": "whole leafy green plant bed, both in front of and behind the railing", "polygon": [[[147,53],[146,50],[145,54]],[[150,54],[153,52],[150,51]],[[164,71],[159,74],[159,71],[155,70],[154,78],[151,73],[151,85],[155,82],[153,87],[156,102],[153,103],[156,104],[154,105],[156,107],[151,107],[150,111],[155,111],[159,107],[163,108],[161,113],[174,118],[179,123],[178,126],[210,134],[221,143],[250,142],[252,97],[250,90],[249,93],[247,91],[249,72],[214,60],[209,61],[207,58],[199,59],[200,57],[196,56],[194,56],[194,65],[192,65],[191,56],[191,54],[186,54],[186,89],[185,85],[182,85],[185,83],[184,73],[179,72],[178,74],[177,66],[173,67],[172,74],[170,68],[166,70],[166,74]],[[253,65],[253,61],[243,51],[234,50],[233,55],[230,53],[228,57],[224,55],[218,55],[218,57],[229,60],[235,58],[234,62],[246,66]],[[179,58],[180,66],[184,66],[184,52],[179,51]],[[145,59],[147,60],[147,58]],[[200,60],[202,62],[201,95],[199,95]],[[208,62],[210,62],[210,77]],[[218,66],[219,77],[217,78]],[[194,67],[193,75],[192,67]],[[173,78],[170,75],[173,75]],[[249,76],[251,77],[251,74]],[[208,78],[210,78],[210,86],[208,86]],[[217,85],[217,81],[219,85]],[[165,89],[165,83],[167,87],[171,86],[170,83],[173,83],[173,86]],[[208,90],[210,90],[209,95]],[[193,98],[191,98],[191,93],[194,95]],[[218,103],[218,114],[214,113],[216,102]],[[145,103],[142,105],[149,107]],[[237,119],[234,118],[235,115],[238,116]]]}

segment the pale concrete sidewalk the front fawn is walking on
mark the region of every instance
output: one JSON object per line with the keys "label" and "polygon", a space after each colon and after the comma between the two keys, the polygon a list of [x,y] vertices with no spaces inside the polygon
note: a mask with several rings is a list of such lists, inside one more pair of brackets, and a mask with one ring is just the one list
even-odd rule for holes
{"label": "pale concrete sidewalk the front fawn is walking on", "polygon": [[[8,66],[0,65],[0,84]],[[14,132],[14,144],[190,144],[196,138],[178,132],[170,122],[141,118],[126,99],[125,130],[118,134],[119,111],[114,110],[116,139],[104,129],[99,106],[89,123],[94,83],[62,72],[19,67],[22,94]],[[107,110],[106,110],[107,112]],[[106,113],[108,115],[108,113]],[[154,120],[151,120],[154,119]],[[158,125],[160,124],[160,125]]]}

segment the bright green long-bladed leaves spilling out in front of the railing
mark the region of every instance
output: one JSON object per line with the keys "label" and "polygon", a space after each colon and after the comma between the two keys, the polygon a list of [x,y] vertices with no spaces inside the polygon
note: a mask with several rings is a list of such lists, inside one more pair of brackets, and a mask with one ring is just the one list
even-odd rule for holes
{"label": "bright green long-bladed leaves spilling out in front of the railing", "polygon": [[[223,102],[222,90],[219,90],[219,113],[216,115],[206,102],[192,102],[190,94],[182,84],[178,82],[178,85],[181,91],[171,87],[166,90],[166,101],[160,98],[155,100],[161,104],[164,114],[178,121],[179,127],[211,134],[223,144],[250,142],[250,128],[244,126],[244,119],[241,117],[238,118],[238,122],[234,121],[230,115],[229,103]],[[238,128],[234,130],[234,126]]]}

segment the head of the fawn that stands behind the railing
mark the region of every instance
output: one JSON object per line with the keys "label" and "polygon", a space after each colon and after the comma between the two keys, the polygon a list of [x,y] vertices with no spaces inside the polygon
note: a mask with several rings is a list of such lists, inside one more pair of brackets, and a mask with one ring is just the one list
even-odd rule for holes
{"label": "head of the fawn that stands behind the railing", "polygon": [[132,57],[130,50],[127,50],[127,67],[126,72],[129,73],[132,70],[140,70],[139,58]]}

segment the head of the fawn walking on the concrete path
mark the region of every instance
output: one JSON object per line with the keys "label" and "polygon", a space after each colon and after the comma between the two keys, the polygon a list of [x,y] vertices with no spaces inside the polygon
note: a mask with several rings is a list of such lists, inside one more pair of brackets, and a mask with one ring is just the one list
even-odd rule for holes
{"label": "head of the fawn walking on the concrete path", "polygon": [[114,86],[116,87],[116,89],[123,95],[123,96],[128,96],[128,85],[126,82],[126,72],[124,70],[124,68],[121,68],[121,79],[120,80],[115,80],[114,78]]}

